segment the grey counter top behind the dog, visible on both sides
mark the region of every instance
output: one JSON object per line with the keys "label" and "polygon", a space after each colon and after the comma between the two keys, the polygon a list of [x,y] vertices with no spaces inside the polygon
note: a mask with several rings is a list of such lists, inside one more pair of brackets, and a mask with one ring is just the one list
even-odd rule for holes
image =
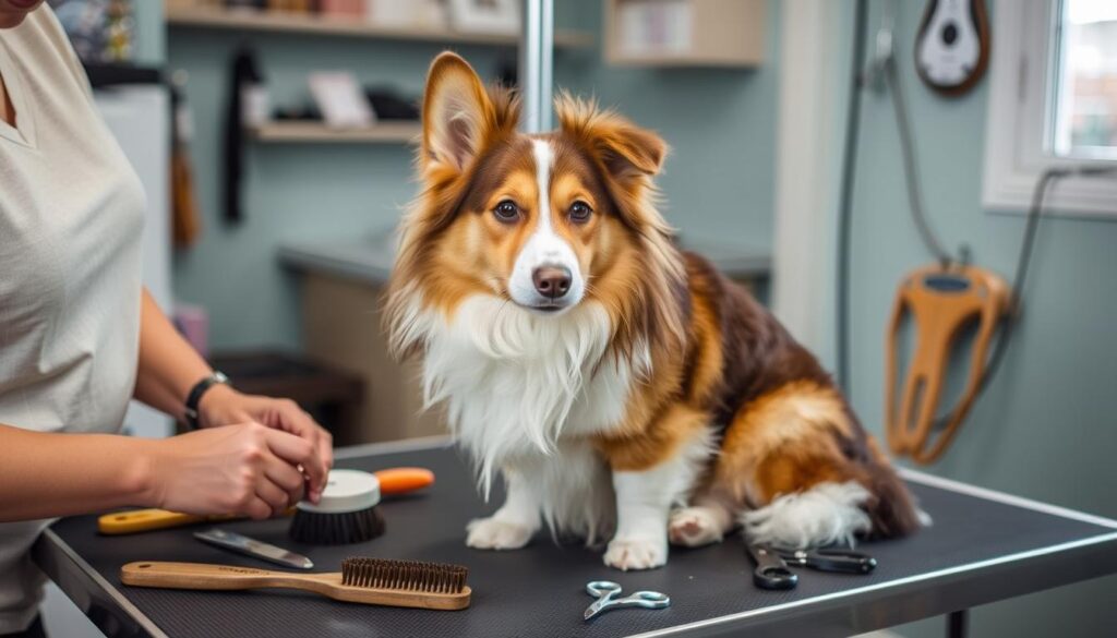
{"label": "grey counter top behind the dog, visible on both sides", "polygon": [[[767,249],[727,241],[684,240],[685,249],[704,255],[734,278],[766,278],[772,269]],[[374,285],[388,282],[395,260],[395,241],[390,234],[364,239],[293,241],[279,246],[279,261],[296,270],[354,278]]]}

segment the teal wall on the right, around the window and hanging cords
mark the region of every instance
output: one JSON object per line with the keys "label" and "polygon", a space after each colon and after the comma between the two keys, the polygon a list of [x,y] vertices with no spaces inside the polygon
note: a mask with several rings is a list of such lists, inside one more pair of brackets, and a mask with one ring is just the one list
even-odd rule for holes
{"label": "teal wall on the right, around the window and hanging cords", "polygon": [[[983,210],[981,200],[989,80],[957,99],[925,88],[910,61],[924,3],[894,4],[901,82],[932,223],[948,247],[967,242],[976,264],[1011,277],[1024,218]],[[838,26],[846,42],[853,15],[852,2],[847,6],[849,21]],[[880,0],[870,2],[870,46],[881,6]],[[853,403],[879,435],[882,335],[892,296],[900,276],[929,263],[930,256],[908,213],[891,104],[887,96],[872,93],[865,94],[862,104],[853,197],[850,368]],[[1002,370],[933,472],[1117,517],[1115,272],[1117,218],[1043,220],[1024,292],[1024,314]],[[1109,636],[1117,626],[1115,591],[1117,578],[1108,578],[983,607],[973,616],[972,635]],[[900,631],[939,636],[941,629],[942,623],[935,622]]]}

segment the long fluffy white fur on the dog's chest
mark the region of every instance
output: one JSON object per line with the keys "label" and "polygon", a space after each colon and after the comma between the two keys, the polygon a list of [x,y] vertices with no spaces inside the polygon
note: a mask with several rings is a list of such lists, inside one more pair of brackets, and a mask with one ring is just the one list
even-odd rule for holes
{"label": "long fluffy white fur on the dog's chest", "polygon": [[503,464],[554,454],[562,439],[615,426],[632,383],[647,374],[646,363],[633,370],[607,354],[613,331],[595,302],[551,317],[477,296],[449,322],[416,314],[426,401],[446,401],[486,493]]}

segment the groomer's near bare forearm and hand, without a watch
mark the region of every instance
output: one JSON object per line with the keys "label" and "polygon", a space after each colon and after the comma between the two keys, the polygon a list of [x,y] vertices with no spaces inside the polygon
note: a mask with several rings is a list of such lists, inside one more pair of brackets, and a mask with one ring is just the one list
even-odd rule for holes
{"label": "groomer's near bare forearm and hand, without a watch", "polygon": [[0,522],[136,505],[266,518],[297,502],[315,458],[259,425],[168,439],[36,432],[0,423]]}

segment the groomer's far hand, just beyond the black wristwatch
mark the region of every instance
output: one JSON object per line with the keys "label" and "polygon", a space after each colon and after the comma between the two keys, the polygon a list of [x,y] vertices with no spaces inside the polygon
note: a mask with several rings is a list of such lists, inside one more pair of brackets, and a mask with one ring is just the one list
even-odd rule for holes
{"label": "groomer's far hand, just beyond the black wristwatch", "polygon": [[273,399],[244,394],[228,385],[214,385],[202,394],[198,404],[202,428],[256,422],[290,432],[314,449],[314,456],[303,464],[308,479],[307,498],[317,503],[326,487],[326,474],[334,465],[333,437],[290,399]]}

